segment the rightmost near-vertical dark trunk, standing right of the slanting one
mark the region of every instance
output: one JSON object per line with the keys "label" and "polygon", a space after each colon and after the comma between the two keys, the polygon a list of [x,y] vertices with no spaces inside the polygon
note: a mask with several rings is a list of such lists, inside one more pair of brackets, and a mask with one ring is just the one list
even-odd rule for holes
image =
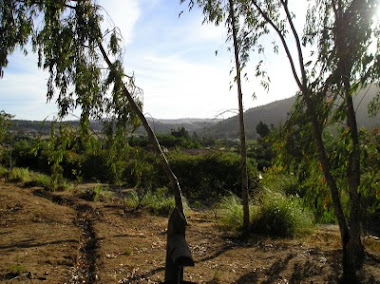
{"label": "rightmost near-vertical dark trunk, standing right of the slanting one", "polygon": [[[356,2],[358,3],[358,2]],[[347,50],[347,46],[355,46],[356,43],[350,43],[350,29],[347,28],[347,22],[355,22],[352,17],[354,14],[344,12],[341,3],[333,1],[334,13],[336,17],[335,25],[335,44],[338,58],[337,76],[343,83],[344,98],[346,103],[347,127],[350,136],[351,147],[348,153],[347,163],[347,182],[348,193],[350,196],[350,223],[348,238],[342,243],[343,245],[343,281],[351,283],[358,282],[356,272],[363,267],[364,247],[361,242],[361,200],[358,192],[360,186],[360,141],[359,132],[356,121],[356,113],[354,109],[351,94],[351,72],[353,68],[353,58],[351,51]],[[353,2],[350,6],[353,11],[356,4]],[[354,48],[355,49],[355,48]]]}

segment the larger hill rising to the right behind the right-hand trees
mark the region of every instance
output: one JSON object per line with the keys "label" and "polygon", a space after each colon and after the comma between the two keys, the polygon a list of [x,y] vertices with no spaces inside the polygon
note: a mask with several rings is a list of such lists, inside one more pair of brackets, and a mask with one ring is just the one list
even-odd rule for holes
{"label": "larger hill rising to the right behind the right-hand trees", "polygon": [[[356,106],[357,121],[359,127],[373,128],[380,126],[380,115],[375,118],[370,118],[368,115],[368,104],[376,96],[379,89],[371,86],[362,90],[354,98],[354,105]],[[246,135],[249,138],[256,138],[256,125],[262,121],[267,125],[273,124],[279,126],[284,124],[292,105],[295,103],[296,98],[291,97],[285,100],[276,101],[264,106],[248,109],[244,113],[244,122],[246,128]],[[239,137],[239,121],[238,116],[225,119],[211,126],[208,135],[214,137],[225,138],[238,138]]]}

